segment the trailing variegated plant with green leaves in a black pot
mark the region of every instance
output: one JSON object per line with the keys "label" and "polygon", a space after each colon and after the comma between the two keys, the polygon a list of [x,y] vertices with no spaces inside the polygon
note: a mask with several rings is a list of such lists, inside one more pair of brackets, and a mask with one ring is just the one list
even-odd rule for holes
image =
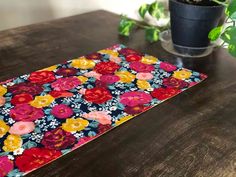
{"label": "trailing variegated plant with green leaves in a black pot", "polygon": [[[217,27],[224,9],[225,22]],[[236,0],[169,0],[169,10],[172,41],[179,52],[186,52],[179,46],[204,48],[210,41],[220,39],[220,42],[223,41],[221,46],[228,48],[229,53],[236,57]],[[149,42],[158,41],[159,33],[169,28],[164,5],[155,1],[142,5],[138,12],[141,21],[121,16],[119,33],[130,36],[135,27],[143,28]],[[156,24],[146,21],[147,15],[155,18]],[[158,21],[167,23],[159,25]]]}

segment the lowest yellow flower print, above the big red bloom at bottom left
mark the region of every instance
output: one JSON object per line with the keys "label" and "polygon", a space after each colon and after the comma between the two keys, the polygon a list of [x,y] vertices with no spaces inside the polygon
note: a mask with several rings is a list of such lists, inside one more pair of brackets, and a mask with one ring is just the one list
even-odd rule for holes
{"label": "lowest yellow flower print, above the big red bloom at bottom left", "polygon": [[19,135],[8,135],[7,139],[4,141],[4,146],[2,149],[5,152],[13,152],[22,146],[22,139]]}

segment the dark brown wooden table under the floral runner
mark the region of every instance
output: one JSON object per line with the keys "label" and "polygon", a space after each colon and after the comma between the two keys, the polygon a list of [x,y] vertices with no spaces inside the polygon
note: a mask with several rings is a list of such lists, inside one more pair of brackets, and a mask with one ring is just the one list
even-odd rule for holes
{"label": "dark brown wooden table under the floral runner", "polygon": [[35,177],[236,176],[236,59],[178,58],[144,32],[119,37],[105,11],[0,32],[0,80],[123,43],[206,73],[203,83],[30,173]]}

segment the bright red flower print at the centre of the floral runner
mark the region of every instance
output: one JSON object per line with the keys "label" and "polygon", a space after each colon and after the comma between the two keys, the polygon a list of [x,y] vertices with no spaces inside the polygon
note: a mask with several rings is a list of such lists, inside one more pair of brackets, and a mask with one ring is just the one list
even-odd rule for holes
{"label": "bright red flower print at the centre of the floral runner", "polygon": [[105,88],[92,88],[85,91],[84,99],[92,103],[102,104],[112,99],[112,95]]}

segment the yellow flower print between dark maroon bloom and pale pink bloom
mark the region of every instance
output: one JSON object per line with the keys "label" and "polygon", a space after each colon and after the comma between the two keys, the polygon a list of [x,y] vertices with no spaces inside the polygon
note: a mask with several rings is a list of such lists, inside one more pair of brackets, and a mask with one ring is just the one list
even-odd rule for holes
{"label": "yellow flower print between dark maroon bloom and pale pink bloom", "polygon": [[85,129],[89,125],[89,121],[82,118],[69,118],[62,124],[62,129],[68,132],[76,132]]}

